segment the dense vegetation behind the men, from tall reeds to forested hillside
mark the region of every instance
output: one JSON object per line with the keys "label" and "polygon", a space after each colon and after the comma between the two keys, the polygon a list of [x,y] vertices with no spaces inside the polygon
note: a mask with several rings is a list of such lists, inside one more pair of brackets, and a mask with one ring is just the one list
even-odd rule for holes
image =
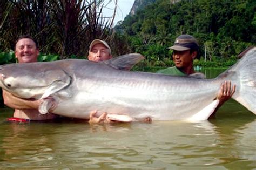
{"label": "dense vegetation behind the men, from tall reeds to forested hillside", "polygon": [[115,27],[115,13],[112,18],[102,15],[107,3],[1,1],[0,64],[15,62],[11,50],[17,37],[26,34],[38,40],[40,61],[86,58],[91,40],[100,38],[110,44],[114,56],[142,53],[146,60],[139,66],[144,67],[173,65],[167,47],[182,33],[198,39],[201,56],[194,64],[205,67],[230,66],[237,61],[238,53],[256,44],[253,0],[158,0],[126,16]]}

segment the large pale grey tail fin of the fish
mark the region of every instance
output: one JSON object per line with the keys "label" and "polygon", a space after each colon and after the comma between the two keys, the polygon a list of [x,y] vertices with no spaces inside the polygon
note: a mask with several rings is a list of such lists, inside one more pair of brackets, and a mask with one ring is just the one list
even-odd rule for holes
{"label": "large pale grey tail fin of the fish", "polygon": [[232,98],[256,114],[256,47],[219,77],[237,85]]}

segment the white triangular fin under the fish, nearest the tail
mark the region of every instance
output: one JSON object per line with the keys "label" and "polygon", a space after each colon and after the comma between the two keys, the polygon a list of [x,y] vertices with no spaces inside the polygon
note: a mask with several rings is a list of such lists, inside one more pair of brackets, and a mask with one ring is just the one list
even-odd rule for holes
{"label": "white triangular fin under the fish, nearest the tail", "polygon": [[204,107],[198,113],[192,115],[192,117],[188,118],[188,121],[201,121],[207,120],[210,115],[214,112],[215,108],[218,106],[219,100],[213,100],[212,103]]}

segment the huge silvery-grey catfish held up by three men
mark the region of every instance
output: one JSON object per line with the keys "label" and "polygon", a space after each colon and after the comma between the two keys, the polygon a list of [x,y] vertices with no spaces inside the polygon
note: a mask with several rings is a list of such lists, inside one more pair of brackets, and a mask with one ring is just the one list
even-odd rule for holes
{"label": "huge silvery-grey catfish held up by three men", "polygon": [[0,86],[17,97],[43,99],[39,112],[89,119],[92,110],[125,115],[132,121],[206,120],[225,80],[237,85],[232,98],[256,114],[256,48],[214,79],[166,76],[129,70],[143,57],[105,62],[67,59],[0,67]]}

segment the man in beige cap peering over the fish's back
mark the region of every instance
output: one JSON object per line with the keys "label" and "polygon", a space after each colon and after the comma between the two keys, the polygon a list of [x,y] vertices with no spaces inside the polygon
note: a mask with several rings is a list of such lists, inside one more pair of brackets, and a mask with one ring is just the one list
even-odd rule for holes
{"label": "man in beige cap peering over the fish's back", "polygon": [[99,62],[111,58],[110,46],[104,40],[95,39],[91,42],[88,55],[90,61]]}

